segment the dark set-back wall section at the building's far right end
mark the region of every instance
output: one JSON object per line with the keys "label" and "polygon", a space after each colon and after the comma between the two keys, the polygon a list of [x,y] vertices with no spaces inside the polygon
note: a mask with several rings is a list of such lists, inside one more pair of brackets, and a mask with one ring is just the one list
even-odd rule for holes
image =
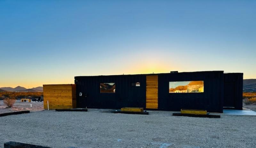
{"label": "dark set-back wall section at the building's far right end", "polygon": [[243,73],[224,74],[224,107],[243,109]]}

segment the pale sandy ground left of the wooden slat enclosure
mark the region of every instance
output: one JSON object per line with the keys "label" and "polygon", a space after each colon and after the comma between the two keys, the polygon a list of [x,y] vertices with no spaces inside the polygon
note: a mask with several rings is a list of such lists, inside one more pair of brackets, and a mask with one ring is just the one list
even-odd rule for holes
{"label": "pale sandy ground left of the wooden slat enclosure", "polygon": [[[30,107],[30,104],[32,104],[32,107]],[[21,102],[20,100],[16,100],[14,106],[8,108],[4,105],[3,100],[0,100],[0,114],[22,110],[30,110],[31,112],[44,110],[44,102]]]}

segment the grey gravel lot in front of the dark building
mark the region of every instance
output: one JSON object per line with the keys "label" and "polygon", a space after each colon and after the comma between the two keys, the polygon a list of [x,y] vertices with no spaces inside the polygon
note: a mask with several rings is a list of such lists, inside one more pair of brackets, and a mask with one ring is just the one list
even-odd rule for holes
{"label": "grey gravel lot in front of the dark building", "polygon": [[249,148],[256,147],[256,116],[220,119],[172,116],[37,111],[0,117],[0,148],[16,141],[53,148]]}

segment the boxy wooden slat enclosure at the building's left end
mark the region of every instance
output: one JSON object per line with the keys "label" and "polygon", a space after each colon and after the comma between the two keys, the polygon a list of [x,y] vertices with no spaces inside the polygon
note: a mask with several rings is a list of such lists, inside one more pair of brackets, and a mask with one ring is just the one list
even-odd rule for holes
{"label": "boxy wooden slat enclosure at the building's left end", "polygon": [[44,109],[71,109],[76,108],[76,85],[43,85]]}

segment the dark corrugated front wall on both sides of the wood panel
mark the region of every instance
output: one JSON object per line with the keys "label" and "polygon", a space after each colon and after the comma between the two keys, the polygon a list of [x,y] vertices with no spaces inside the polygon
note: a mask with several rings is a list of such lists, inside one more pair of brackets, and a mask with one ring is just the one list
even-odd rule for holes
{"label": "dark corrugated front wall on both sides of the wood panel", "polygon": [[[223,71],[181,72],[158,75],[158,109],[179,111],[205,109],[223,111]],[[116,75],[75,77],[77,107],[146,108],[146,76]],[[169,82],[204,81],[204,93],[169,93]],[[140,87],[131,83],[140,82]],[[100,93],[100,83],[116,83],[116,93]],[[79,96],[82,92],[82,96]],[[85,97],[86,96],[86,97]]]}

